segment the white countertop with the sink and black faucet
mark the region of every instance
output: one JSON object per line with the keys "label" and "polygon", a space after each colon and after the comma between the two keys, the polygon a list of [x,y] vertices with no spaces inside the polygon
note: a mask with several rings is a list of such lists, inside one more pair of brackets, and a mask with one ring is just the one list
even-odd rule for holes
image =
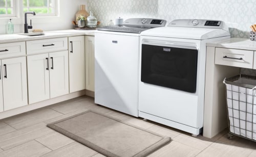
{"label": "white countertop with the sink and black faucet", "polygon": [[70,36],[79,36],[79,35],[94,36],[94,32],[95,30],[60,30],[60,31],[47,31],[47,32],[44,32],[45,35],[41,35],[41,36],[19,35],[22,33],[3,34],[3,35],[0,35],[0,43],[61,38],[61,37],[70,37]]}

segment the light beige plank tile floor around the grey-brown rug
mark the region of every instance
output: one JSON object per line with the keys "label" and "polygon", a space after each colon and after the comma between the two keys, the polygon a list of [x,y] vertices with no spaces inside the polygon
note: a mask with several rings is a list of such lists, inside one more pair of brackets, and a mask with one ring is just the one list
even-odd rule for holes
{"label": "light beige plank tile floor around the grey-brown rug", "polygon": [[256,156],[256,142],[239,137],[228,140],[227,130],[212,139],[191,137],[180,130],[99,106],[88,96],[0,120],[0,156],[103,156],[46,126],[87,110],[95,110],[172,138],[169,144],[149,156]]}

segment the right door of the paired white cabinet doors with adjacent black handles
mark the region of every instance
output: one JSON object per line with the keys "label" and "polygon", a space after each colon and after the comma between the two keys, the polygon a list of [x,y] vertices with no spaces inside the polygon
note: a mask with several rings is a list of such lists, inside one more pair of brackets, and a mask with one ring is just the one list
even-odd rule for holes
{"label": "right door of the paired white cabinet doors with adjacent black handles", "polygon": [[50,98],[69,93],[68,51],[50,53]]}

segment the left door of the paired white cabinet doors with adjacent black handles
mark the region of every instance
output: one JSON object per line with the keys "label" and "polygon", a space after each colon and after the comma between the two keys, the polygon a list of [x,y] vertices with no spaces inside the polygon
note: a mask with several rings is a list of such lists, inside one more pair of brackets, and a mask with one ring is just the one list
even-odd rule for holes
{"label": "left door of the paired white cabinet doors with adjacent black handles", "polygon": [[50,59],[48,54],[28,56],[27,60],[29,104],[49,99]]}

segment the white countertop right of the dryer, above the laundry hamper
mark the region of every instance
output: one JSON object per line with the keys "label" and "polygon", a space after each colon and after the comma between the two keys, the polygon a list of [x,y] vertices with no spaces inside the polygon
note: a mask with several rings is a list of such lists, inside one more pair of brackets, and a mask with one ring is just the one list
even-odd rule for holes
{"label": "white countertop right of the dryer, above the laundry hamper", "polygon": [[246,38],[230,38],[206,43],[206,46],[256,50],[256,41],[251,41]]}

